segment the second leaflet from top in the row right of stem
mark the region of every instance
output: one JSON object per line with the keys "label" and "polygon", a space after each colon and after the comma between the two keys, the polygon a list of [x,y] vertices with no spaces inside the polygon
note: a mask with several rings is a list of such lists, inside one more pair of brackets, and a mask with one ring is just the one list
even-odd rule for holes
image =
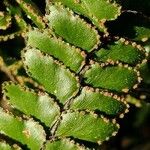
{"label": "second leaflet from top in the row right of stem", "polygon": [[102,67],[98,63],[92,64],[84,74],[84,81],[93,87],[128,92],[138,83],[138,75],[132,68],[121,65]]}

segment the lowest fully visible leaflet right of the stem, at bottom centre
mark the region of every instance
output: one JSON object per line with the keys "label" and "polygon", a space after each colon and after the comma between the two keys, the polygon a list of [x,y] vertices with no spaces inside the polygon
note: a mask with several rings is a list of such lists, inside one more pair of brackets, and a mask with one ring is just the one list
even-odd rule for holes
{"label": "lowest fully visible leaflet right of the stem, at bottom centre", "polygon": [[117,131],[117,124],[94,114],[67,112],[62,115],[56,135],[59,137],[73,136],[81,140],[101,143],[115,135]]}

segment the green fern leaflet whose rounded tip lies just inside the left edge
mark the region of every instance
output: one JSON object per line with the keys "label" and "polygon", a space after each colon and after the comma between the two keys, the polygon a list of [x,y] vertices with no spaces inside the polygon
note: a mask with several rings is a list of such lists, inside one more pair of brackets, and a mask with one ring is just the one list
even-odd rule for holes
{"label": "green fern leaflet whose rounded tip lies just inside the left edge", "polygon": [[37,94],[27,87],[7,82],[4,84],[3,90],[4,96],[9,99],[9,103],[14,108],[36,117],[47,126],[51,127],[58,119],[60,109],[46,93],[39,92]]}

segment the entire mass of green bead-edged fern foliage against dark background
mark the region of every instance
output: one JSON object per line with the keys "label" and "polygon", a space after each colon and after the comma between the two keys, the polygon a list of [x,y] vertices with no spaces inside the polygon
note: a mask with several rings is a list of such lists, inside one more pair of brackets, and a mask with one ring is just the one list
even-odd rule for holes
{"label": "entire mass of green bead-edged fern foliage against dark background", "polygon": [[0,41],[22,36],[25,46],[21,62],[10,64],[0,47],[0,70],[12,80],[3,83],[0,108],[0,133],[11,142],[0,148],[80,150],[117,134],[140,72],[148,80],[148,52],[139,43],[149,38],[134,20],[133,42],[116,34],[117,2],[51,0],[44,15],[31,0],[4,0]]}

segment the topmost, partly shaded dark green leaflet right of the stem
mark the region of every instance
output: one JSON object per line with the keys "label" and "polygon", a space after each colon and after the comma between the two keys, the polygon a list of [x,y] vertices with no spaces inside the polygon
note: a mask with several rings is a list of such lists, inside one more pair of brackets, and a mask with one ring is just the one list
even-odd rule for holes
{"label": "topmost, partly shaded dark green leaflet right of the stem", "polygon": [[[121,41],[123,40],[123,41]],[[96,61],[106,62],[107,60],[121,61],[130,65],[137,65],[145,58],[144,50],[140,50],[137,44],[130,43],[124,39],[120,39],[115,43],[107,45],[107,48],[101,48],[96,54]]]}

